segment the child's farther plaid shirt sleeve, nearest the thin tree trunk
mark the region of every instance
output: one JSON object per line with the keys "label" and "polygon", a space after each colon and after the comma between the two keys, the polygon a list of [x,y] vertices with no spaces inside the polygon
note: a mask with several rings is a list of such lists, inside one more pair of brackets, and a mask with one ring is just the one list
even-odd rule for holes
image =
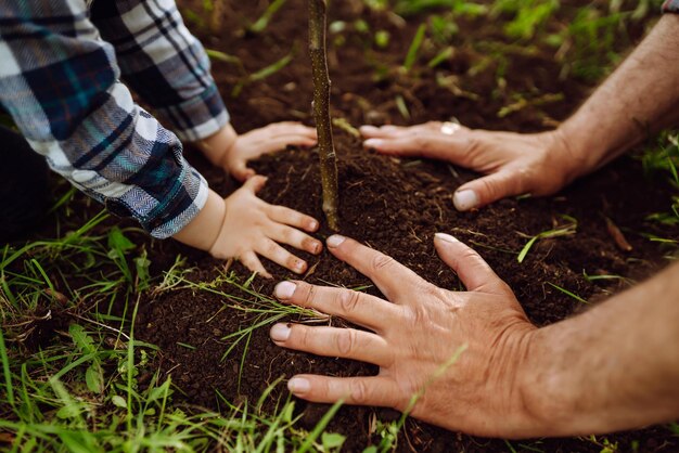
{"label": "child's farther plaid shirt sleeve, nearest the thin tree trunk", "polygon": [[204,139],[228,122],[209,59],[172,0],[94,0],[91,20],[115,48],[126,85],[181,140]]}

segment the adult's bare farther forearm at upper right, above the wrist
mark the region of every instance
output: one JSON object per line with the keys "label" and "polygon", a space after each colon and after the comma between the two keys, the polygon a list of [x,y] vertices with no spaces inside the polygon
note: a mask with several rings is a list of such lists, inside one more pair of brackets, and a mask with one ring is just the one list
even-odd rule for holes
{"label": "adult's bare farther forearm at upper right, above the wrist", "polygon": [[679,15],[650,35],[558,130],[578,161],[577,174],[600,168],[649,133],[679,120]]}

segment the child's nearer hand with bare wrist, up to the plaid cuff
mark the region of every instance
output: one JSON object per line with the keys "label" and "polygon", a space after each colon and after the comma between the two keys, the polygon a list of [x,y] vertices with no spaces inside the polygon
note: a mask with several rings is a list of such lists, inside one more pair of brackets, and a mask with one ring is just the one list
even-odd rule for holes
{"label": "child's nearer hand with bare wrist, up to the plaid cuff", "polygon": [[278,243],[317,255],[322,244],[303,233],[313,232],[318,222],[283,206],[272,206],[257,198],[266,178],[251,178],[240,190],[222,199],[210,191],[201,212],[175,238],[183,244],[209,251],[216,258],[238,258],[252,271],[270,277],[257,255],[304,273],[307,263]]}

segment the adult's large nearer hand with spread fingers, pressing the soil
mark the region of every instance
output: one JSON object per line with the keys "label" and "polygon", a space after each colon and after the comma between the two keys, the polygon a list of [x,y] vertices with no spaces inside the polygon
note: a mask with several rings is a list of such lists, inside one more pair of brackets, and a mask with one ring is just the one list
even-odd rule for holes
{"label": "adult's large nearer hand with spread fingers, pressing the soil", "polygon": [[425,422],[478,436],[531,435],[537,425],[524,400],[522,372],[536,327],[474,250],[447,234],[437,234],[435,245],[466,293],[438,288],[342,236],[331,236],[329,249],[370,277],[389,301],[304,282],[279,283],[274,294],[281,301],[341,316],[369,332],[277,324],[270,332],[277,345],[380,366],[372,377],[294,376],[290,390],[316,402],[343,399],[399,411],[422,392],[411,415]]}

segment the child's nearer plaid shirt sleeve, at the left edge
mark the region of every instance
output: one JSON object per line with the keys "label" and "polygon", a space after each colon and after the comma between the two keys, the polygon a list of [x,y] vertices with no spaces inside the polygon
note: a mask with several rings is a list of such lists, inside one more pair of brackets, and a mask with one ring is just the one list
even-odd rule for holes
{"label": "child's nearer plaid shirt sleeve, at the left edge", "polygon": [[[177,59],[192,51],[176,48]],[[118,80],[115,50],[101,40],[85,2],[0,2],[0,103],[34,150],[76,187],[158,238],[179,232],[202,209],[207,183],[183,158],[177,137]],[[202,94],[210,90],[193,99],[188,90],[167,108],[191,114],[212,99]],[[203,126],[214,119],[187,130],[198,137],[216,127]]]}

